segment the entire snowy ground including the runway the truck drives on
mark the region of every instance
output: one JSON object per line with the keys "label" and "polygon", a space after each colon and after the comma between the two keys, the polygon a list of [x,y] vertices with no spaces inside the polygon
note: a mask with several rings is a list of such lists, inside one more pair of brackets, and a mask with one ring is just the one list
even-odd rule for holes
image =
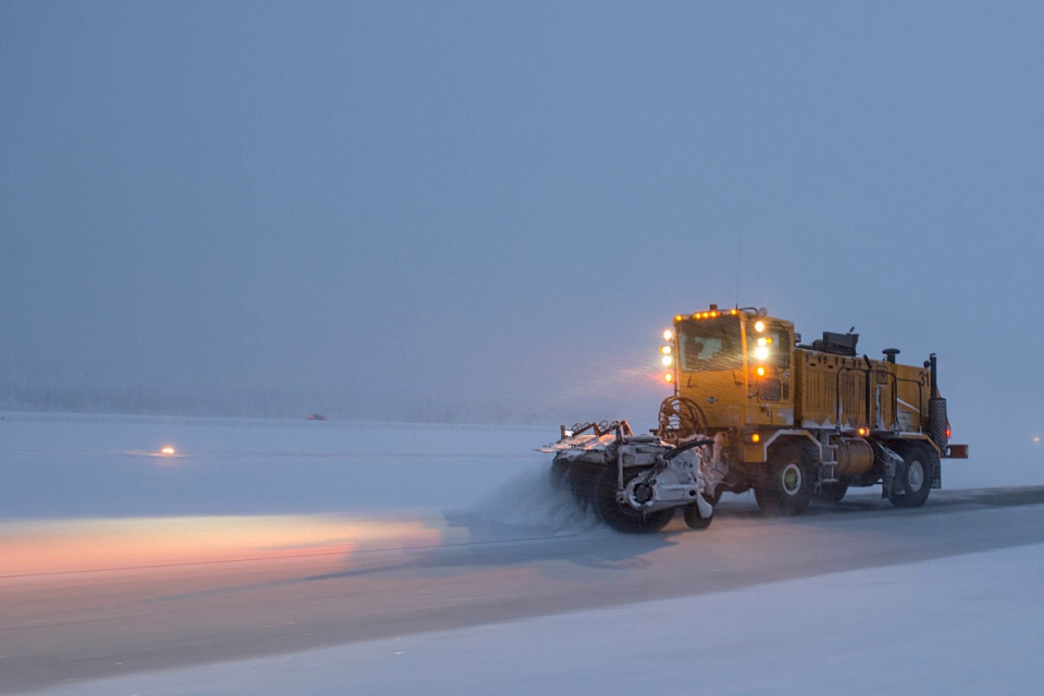
{"label": "entire snowy ground including the runway the truck drives on", "polygon": [[[1041,486],[788,520],[726,496],[706,532],[633,537],[547,488],[535,430],[0,433],[4,693],[970,693],[983,658],[1008,693],[1041,676]],[[124,453],[167,440],[184,459]]]}

